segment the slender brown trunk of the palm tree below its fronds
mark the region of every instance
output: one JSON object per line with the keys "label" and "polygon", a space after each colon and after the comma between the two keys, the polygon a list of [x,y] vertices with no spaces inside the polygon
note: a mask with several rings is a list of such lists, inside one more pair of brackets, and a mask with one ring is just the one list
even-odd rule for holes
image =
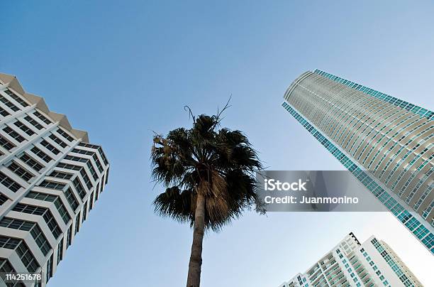
{"label": "slender brown trunk of the palm tree below its fronds", "polygon": [[201,284],[202,243],[205,232],[205,197],[198,193],[196,198],[196,212],[194,213],[193,244],[189,262],[187,287],[199,287]]}

